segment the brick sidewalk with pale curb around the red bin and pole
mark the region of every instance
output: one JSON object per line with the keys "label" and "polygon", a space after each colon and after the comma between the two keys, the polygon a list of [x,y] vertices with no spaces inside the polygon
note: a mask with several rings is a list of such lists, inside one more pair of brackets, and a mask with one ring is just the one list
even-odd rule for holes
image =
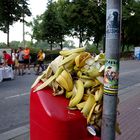
{"label": "brick sidewalk with pale curb around the red bin and pole", "polygon": [[[116,140],[138,140],[140,137],[140,83],[119,90],[118,122],[122,134]],[[0,140],[30,140],[29,125],[0,134]]]}

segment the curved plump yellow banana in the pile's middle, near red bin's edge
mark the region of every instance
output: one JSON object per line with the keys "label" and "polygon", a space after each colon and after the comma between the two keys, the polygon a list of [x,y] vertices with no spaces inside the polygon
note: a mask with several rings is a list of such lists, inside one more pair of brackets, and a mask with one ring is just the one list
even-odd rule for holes
{"label": "curved plump yellow banana in the pile's middle, near red bin's edge", "polygon": [[69,107],[74,107],[76,106],[81,100],[84,95],[84,85],[81,80],[77,80],[75,83],[77,92],[76,95],[70,100],[69,102]]}

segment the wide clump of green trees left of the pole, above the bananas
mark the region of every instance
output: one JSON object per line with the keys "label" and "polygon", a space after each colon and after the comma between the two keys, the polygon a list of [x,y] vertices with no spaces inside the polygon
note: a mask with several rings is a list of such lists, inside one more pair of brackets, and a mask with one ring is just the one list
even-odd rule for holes
{"label": "wide clump of green trees left of the pole, above the bananas", "polygon": [[33,36],[36,40],[47,40],[52,49],[53,44],[60,44],[65,36],[79,38],[97,44],[105,33],[105,0],[58,0],[48,3],[44,14],[34,20]]}

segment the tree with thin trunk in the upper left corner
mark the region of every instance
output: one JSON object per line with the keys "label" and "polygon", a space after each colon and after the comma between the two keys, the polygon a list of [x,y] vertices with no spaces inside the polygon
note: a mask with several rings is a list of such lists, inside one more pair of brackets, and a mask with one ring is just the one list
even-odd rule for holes
{"label": "tree with thin trunk in the upper left corner", "polygon": [[23,13],[31,15],[28,9],[28,0],[0,0],[0,30],[7,33],[7,46],[9,47],[9,26],[14,22],[23,21]]}

